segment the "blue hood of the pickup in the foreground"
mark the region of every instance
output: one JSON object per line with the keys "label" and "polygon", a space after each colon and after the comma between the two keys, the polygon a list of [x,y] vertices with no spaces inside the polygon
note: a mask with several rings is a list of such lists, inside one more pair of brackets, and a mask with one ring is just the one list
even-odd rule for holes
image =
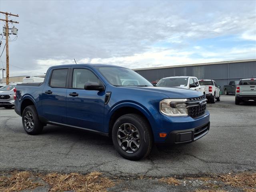
{"label": "blue hood of the pickup in the foreground", "polygon": [[120,87],[131,90],[143,90],[148,92],[158,92],[166,95],[168,98],[194,98],[202,96],[199,91],[178,88],[178,87]]}

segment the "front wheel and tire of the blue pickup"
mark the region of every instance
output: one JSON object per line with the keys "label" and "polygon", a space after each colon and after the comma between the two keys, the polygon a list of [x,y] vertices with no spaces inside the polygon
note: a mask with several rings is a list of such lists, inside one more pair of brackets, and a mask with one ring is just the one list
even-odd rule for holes
{"label": "front wheel and tire of the blue pickup", "polygon": [[145,158],[153,147],[151,127],[138,114],[126,114],[118,118],[112,129],[112,140],[118,153],[129,160]]}

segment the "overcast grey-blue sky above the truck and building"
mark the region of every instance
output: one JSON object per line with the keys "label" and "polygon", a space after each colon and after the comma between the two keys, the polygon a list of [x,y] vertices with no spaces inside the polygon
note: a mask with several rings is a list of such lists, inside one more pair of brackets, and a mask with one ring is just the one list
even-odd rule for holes
{"label": "overcast grey-blue sky above the truck and building", "polygon": [[44,74],[73,58],[128,68],[256,58],[256,1],[1,0],[0,10],[19,14],[9,18],[20,22],[10,76]]}

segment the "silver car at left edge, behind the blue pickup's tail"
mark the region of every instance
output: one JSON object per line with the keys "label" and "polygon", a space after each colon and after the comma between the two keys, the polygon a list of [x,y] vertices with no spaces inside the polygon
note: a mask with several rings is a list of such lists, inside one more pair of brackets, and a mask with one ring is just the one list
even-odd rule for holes
{"label": "silver car at left edge, behind the blue pickup's tail", "polygon": [[0,107],[12,108],[14,106],[14,88],[16,84],[9,84],[0,88]]}

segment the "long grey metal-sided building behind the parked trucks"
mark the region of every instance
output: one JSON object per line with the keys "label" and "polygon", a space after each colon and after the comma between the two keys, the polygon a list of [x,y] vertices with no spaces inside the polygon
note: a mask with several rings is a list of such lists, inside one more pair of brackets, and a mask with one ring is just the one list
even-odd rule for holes
{"label": "long grey metal-sided building behind the parked trucks", "polygon": [[199,80],[212,79],[221,86],[223,92],[223,86],[230,81],[255,78],[256,59],[144,68],[134,71],[150,82],[171,76],[195,76]]}

